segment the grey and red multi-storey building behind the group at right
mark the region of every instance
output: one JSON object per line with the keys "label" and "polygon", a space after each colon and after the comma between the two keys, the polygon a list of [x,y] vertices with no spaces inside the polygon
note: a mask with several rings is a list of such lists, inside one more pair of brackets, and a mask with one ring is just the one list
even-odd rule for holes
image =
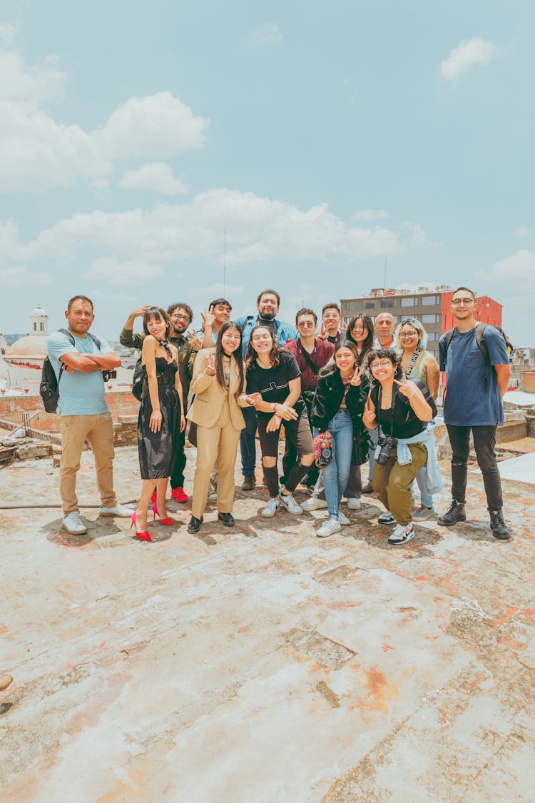
{"label": "grey and red multi-storey building behind the group at right", "polygon": [[[428,351],[438,359],[440,336],[455,325],[450,302],[452,287],[448,284],[397,289],[375,287],[367,296],[341,299],[340,310],[345,324],[366,312],[373,320],[381,312],[390,312],[395,323],[405,318],[417,318],[428,332]],[[476,299],[476,320],[501,326],[502,305],[489,296]]]}

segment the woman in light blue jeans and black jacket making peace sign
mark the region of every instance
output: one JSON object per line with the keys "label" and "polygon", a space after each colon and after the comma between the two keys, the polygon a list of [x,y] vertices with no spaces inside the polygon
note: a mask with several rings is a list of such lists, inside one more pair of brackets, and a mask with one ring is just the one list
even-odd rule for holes
{"label": "woman in light blue jeans and black jacket making peace sign", "polygon": [[368,388],[367,377],[359,368],[357,346],[343,340],[334,348],[333,361],[319,372],[312,402],[314,435],[329,430],[333,441],[333,457],[322,469],[329,518],[318,530],[320,538],[338,532],[342,524],[350,524],[339,505],[347,486],[355,436],[363,430]]}

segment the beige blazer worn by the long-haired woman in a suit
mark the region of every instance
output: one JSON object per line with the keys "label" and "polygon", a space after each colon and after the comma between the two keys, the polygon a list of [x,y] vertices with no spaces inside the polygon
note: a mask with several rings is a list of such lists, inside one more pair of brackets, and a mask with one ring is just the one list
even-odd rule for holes
{"label": "beige blazer worn by the long-haired woman in a suit", "polygon": [[[188,420],[193,421],[197,426],[213,426],[221,414],[221,408],[227,393],[222,389],[217,381],[217,377],[209,377],[205,373],[208,357],[216,353],[215,346],[212,349],[201,349],[195,358],[193,365],[193,379],[190,389],[195,393],[193,405],[189,408]],[[245,369],[245,366],[244,366]],[[245,373],[245,370],[244,370]],[[229,410],[230,420],[235,430],[242,430],[245,426],[245,419],[240,407],[248,407],[245,397],[245,378],[244,385],[240,388],[241,393],[236,397],[234,394],[238,389],[240,373],[234,357],[230,357],[230,387],[229,387]]]}

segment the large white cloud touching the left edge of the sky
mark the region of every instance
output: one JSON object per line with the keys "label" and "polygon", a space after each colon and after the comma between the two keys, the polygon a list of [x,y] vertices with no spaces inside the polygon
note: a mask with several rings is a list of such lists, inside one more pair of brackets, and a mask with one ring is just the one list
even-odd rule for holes
{"label": "large white cloud touching the left edge of the sky", "polygon": [[98,186],[117,161],[161,159],[205,143],[209,120],[171,92],[132,97],[107,122],[88,132],[59,124],[44,109],[63,95],[67,74],[55,56],[27,65],[12,51],[0,51],[0,184],[2,190],[44,190],[91,181]]}

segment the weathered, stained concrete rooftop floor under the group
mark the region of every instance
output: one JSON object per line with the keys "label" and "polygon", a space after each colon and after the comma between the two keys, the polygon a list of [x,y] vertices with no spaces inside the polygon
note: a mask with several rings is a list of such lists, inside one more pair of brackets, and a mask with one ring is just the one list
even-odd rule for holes
{"label": "weathered, stained concrete rooftop floor under the group", "polygon": [[[2,503],[56,502],[57,479],[3,468]],[[534,487],[504,480],[501,543],[469,485],[466,524],[402,548],[375,499],[319,540],[322,511],[262,520],[262,487],[200,536],[170,503],[152,544],[95,510],[78,537],[0,512],[0,799],[535,801]],[[118,450],[120,499],[139,487]]]}

